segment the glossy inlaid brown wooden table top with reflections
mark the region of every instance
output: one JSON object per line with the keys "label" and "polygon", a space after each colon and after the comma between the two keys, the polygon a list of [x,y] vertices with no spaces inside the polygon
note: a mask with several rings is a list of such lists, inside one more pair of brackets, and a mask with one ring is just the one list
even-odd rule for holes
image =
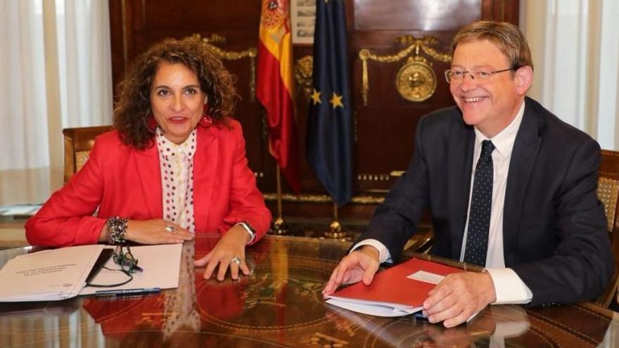
{"label": "glossy inlaid brown wooden table top with reflections", "polygon": [[350,246],[333,240],[267,236],[249,276],[205,281],[193,259],[215,243],[185,243],[179,288],[158,295],[0,304],[0,347],[619,347],[618,314],[590,303],[491,306],[452,329],[331,307],[321,290]]}

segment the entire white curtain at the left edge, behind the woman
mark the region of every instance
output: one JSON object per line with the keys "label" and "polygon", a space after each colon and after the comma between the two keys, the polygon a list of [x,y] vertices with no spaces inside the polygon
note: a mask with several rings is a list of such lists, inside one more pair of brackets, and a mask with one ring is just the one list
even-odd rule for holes
{"label": "entire white curtain at the left edge, behind the woman", "polygon": [[44,202],[62,184],[60,129],[110,124],[108,11],[0,0],[0,205]]}

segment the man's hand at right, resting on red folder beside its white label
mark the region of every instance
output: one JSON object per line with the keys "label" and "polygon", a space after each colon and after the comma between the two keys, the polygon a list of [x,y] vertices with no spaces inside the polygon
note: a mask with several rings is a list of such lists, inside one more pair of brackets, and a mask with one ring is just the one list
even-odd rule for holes
{"label": "man's hand at right, resting on red folder beside its white label", "polygon": [[496,302],[490,273],[454,273],[428,292],[423,302],[423,314],[430,323],[443,322],[445,328],[460,325],[473,314]]}

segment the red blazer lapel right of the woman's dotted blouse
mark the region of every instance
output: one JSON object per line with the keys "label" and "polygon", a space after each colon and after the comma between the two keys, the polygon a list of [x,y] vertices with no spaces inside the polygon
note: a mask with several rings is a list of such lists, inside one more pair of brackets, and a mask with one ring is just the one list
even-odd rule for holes
{"label": "red blazer lapel right of the woman's dotted blouse", "polygon": [[196,231],[206,231],[219,162],[219,140],[212,134],[213,127],[215,126],[205,129],[198,126],[197,150],[193,157],[193,216]]}

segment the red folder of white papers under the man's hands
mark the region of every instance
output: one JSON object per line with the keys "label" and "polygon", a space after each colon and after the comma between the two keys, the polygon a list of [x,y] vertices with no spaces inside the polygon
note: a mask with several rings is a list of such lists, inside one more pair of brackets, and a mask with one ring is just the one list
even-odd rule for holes
{"label": "red folder of white papers under the man's hands", "polygon": [[405,316],[420,311],[428,292],[447,274],[462,271],[435,262],[410,259],[376,274],[370,285],[359,282],[336,291],[326,302],[373,316]]}

